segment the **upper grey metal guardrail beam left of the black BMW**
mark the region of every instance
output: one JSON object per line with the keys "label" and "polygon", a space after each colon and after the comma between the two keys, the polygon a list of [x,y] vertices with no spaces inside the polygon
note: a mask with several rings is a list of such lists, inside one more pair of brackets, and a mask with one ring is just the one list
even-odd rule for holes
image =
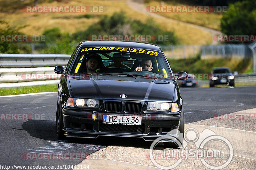
{"label": "upper grey metal guardrail beam left of the black BMW", "polygon": [[66,65],[66,54],[0,54],[0,68]]}

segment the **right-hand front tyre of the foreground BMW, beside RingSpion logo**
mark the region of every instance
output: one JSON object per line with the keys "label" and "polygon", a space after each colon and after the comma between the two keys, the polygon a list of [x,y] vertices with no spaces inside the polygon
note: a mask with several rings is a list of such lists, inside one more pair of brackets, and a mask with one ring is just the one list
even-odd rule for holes
{"label": "right-hand front tyre of the foreground BMW, beside RingSpion logo", "polygon": [[180,127],[179,127],[180,135],[177,140],[179,142],[164,142],[164,147],[166,148],[180,148],[182,147],[184,141],[184,111],[183,108],[181,110],[181,120],[180,120]]}

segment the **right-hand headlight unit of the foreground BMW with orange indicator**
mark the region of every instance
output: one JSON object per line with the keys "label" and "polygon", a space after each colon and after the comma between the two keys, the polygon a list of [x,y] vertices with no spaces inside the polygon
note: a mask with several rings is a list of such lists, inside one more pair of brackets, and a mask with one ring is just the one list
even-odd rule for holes
{"label": "right-hand headlight unit of the foreground BMW with orange indicator", "polygon": [[178,112],[179,107],[177,103],[167,103],[167,102],[148,102],[148,111],[169,111]]}

